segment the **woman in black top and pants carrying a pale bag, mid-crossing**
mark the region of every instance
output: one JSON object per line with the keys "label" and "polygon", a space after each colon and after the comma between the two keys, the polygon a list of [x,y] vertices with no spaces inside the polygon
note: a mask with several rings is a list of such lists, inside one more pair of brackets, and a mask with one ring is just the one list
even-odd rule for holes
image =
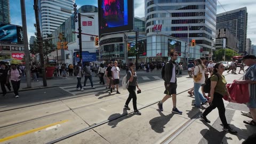
{"label": "woman in black top and pants carrying a pale bag, mid-crossing", "polygon": [[129,97],[127,98],[127,100],[125,102],[124,109],[130,110],[128,105],[132,99],[133,110],[134,110],[133,113],[135,115],[141,115],[140,111],[137,109],[137,95],[136,95],[135,90],[136,90],[136,86],[138,89],[139,89],[139,86],[138,86],[138,82],[137,82],[137,74],[134,69],[135,69],[134,63],[130,63],[129,71],[127,72],[127,76],[126,76],[127,82],[130,81],[128,88],[127,88],[127,90],[129,91]]}

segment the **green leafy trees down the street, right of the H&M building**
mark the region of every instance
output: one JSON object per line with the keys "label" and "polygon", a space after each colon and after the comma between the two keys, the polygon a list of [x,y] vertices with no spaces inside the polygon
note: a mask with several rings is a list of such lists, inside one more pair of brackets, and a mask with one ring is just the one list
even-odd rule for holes
{"label": "green leafy trees down the street, right of the H&M building", "polygon": [[[219,49],[213,52],[213,56],[216,58],[215,60],[217,61],[222,61],[224,60],[222,56],[225,55],[225,49]],[[226,61],[232,60],[233,56],[239,55],[237,52],[234,51],[233,55],[233,50],[226,49]]]}

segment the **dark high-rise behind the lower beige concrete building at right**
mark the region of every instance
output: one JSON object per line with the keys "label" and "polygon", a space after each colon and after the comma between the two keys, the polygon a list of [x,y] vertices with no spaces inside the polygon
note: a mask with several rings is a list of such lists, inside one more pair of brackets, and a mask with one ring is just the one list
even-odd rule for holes
{"label": "dark high-rise behind the lower beige concrete building at right", "polygon": [[216,28],[228,28],[231,31],[239,41],[238,49],[240,53],[243,53],[246,49],[247,17],[246,7],[217,14]]}

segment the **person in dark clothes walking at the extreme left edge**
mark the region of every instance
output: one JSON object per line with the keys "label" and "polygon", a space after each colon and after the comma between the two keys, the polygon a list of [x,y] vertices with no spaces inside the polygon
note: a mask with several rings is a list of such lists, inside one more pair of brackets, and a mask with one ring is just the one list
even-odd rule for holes
{"label": "person in dark clothes walking at the extreme left edge", "polygon": [[1,63],[0,82],[1,82],[1,89],[3,92],[3,96],[5,96],[5,94],[7,93],[6,89],[5,89],[5,85],[7,86],[9,91],[11,91],[10,83],[8,83],[8,84],[6,83],[7,74],[8,74],[8,69],[6,68],[6,65],[4,63]]}

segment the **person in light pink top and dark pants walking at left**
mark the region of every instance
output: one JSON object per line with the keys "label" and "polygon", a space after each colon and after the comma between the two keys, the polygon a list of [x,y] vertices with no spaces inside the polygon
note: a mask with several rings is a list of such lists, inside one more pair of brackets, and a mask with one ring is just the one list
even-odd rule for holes
{"label": "person in light pink top and dark pants walking at left", "polygon": [[9,78],[11,79],[13,91],[15,94],[15,98],[19,98],[19,89],[20,89],[20,77],[21,71],[17,69],[17,65],[12,63],[11,69],[8,71],[6,84],[9,84]]}

